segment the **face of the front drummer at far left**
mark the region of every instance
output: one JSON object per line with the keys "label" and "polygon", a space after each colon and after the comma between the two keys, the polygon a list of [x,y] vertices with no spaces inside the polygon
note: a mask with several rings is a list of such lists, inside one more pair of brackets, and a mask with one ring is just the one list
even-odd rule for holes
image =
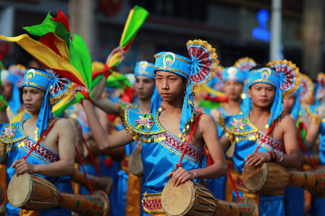
{"label": "face of the front drummer at far left", "polygon": [[22,100],[26,110],[30,113],[38,113],[41,110],[46,92],[31,86],[24,86],[22,90]]}

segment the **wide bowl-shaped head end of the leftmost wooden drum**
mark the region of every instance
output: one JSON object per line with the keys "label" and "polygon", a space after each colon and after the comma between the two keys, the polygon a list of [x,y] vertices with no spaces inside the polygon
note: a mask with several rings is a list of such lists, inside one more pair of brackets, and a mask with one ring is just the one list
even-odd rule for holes
{"label": "wide bowl-shaped head end of the leftmost wooden drum", "polygon": [[26,172],[11,178],[7,194],[12,206],[27,210],[53,208],[59,199],[59,192],[52,183]]}

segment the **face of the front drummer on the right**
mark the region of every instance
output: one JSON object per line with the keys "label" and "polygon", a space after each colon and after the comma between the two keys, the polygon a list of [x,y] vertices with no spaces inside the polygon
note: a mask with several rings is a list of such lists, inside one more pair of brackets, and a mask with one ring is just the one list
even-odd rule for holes
{"label": "face of the front drummer on the right", "polygon": [[255,83],[247,89],[247,94],[253,105],[267,109],[273,103],[275,88],[271,84]]}

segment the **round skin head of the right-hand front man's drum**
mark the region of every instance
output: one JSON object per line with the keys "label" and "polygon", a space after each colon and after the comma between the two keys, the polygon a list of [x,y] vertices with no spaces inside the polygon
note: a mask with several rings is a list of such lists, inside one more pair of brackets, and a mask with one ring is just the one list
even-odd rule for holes
{"label": "round skin head of the right-hand front man's drum", "polygon": [[266,162],[261,166],[250,166],[245,164],[243,169],[243,183],[245,187],[253,192],[263,188],[269,177],[269,168]]}

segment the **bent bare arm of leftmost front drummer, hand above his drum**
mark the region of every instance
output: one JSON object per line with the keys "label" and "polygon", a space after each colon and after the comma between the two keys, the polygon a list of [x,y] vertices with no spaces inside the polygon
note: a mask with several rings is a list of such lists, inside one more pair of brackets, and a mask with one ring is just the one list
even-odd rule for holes
{"label": "bent bare arm of leftmost front drummer, hand above his drum", "polygon": [[76,134],[72,124],[67,119],[59,119],[52,130],[58,135],[58,151],[60,160],[50,164],[30,164],[25,159],[16,160],[11,167],[18,176],[24,172],[40,174],[49,177],[71,175],[75,161]]}

